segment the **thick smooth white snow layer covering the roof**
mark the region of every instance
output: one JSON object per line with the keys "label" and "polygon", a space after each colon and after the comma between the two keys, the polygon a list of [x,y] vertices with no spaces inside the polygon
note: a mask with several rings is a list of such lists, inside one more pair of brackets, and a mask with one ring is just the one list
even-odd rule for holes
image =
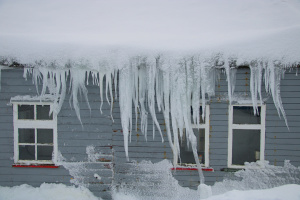
{"label": "thick smooth white snow layer covering the roof", "polygon": [[204,51],[300,60],[299,0],[2,0],[0,27],[0,56],[24,62]]}

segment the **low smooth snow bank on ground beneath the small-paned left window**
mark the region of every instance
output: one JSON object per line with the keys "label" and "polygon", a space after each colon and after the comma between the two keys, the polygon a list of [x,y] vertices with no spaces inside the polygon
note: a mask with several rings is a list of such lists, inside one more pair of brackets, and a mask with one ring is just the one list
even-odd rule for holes
{"label": "low smooth snow bank on ground beneath the small-paned left window", "polygon": [[15,187],[1,187],[0,199],[5,200],[100,200],[84,187],[43,183],[40,187],[23,184]]}

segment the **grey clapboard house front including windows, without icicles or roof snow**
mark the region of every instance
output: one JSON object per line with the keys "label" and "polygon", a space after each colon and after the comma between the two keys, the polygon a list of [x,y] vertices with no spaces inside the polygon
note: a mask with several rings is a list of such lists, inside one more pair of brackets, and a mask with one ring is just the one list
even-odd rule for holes
{"label": "grey clapboard house front including windows, without icicles or roof snow", "polygon": [[[57,106],[53,103],[57,99],[46,94],[42,98],[37,96],[36,87],[41,94],[43,81],[39,82],[41,84],[32,84],[34,76],[41,75],[34,75],[39,71],[32,70],[33,73],[28,74],[27,79],[23,78],[26,69],[4,67],[1,70],[1,185],[27,183],[39,186],[43,182],[70,184],[71,181],[109,198],[111,184],[132,181],[131,175],[126,176],[126,172],[130,172],[130,166],[134,165],[132,161],[173,161],[162,113],[156,111],[156,118],[164,142],[157,130],[153,139],[155,126],[151,125],[147,128],[146,141],[140,115],[137,124],[133,120],[134,128],[128,143],[130,162],[127,162],[120,118],[121,97],[113,100],[112,107],[104,102],[101,114],[99,86],[91,84],[93,80],[89,76],[88,85],[84,80],[89,105],[84,98],[80,99],[78,96],[82,124],[76,116],[76,110],[70,108],[68,98],[65,98],[57,115],[54,111],[49,116],[49,111]],[[249,68],[237,68],[231,103],[228,99],[227,77],[224,73],[217,75],[220,80],[215,84],[214,97],[205,105],[205,118],[200,118],[198,125],[192,125],[206,184],[222,180],[227,171],[243,168],[244,162],[268,160],[270,164],[280,166],[284,160],[290,160],[293,165],[299,165],[297,99],[300,93],[296,89],[299,78],[295,70],[296,66],[284,70],[285,77],[280,86],[288,127],[284,119],[279,117],[270,94],[262,93],[263,103],[258,103],[258,112],[254,115]],[[72,72],[69,73],[66,76],[67,83],[72,76]],[[85,71],[80,73],[85,78]],[[46,75],[49,84],[53,74],[49,70]],[[105,83],[104,79],[103,85]],[[72,87],[74,90],[75,86]],[[75,98],[73,93],[70,96]],[[202,106],[199,108],[199,114],[203,113]],[[134,106],[132,109],[134,112]],[[188,112],[191,113],[190,107]],[[182,142],[179,143],[181,164],[170,170],[173,170],[174,177],[181,185],[196,188],[199,176],[191,147],[187,146],[186,140],[183,135]],[[180,163],[179,160],[177,162]],[[101,177],[100,180],[98,176]]]}

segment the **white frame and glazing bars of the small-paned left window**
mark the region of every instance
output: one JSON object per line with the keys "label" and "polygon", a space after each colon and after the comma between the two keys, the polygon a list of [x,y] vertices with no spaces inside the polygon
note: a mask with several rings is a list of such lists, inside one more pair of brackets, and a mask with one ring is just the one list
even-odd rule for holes
{"label": "white frame and glazing bars of the small-paned left window", "polygon": [[[14,123],[14,163],[15,164],[54,164],[57,161],[57,116],[53,113],[52,120],[37,120],[36,107],[37,105],[50,105],[51,102],[12,102],[13,105],[13,123]],[[34,106],[34,119],[18,119],[18,106],[19,105],[33,105]],[[53,155],[52,160],[19,160],[19,128],[32,128],[32,129],[53,129]],[[36,137],[36,130],[35,130]],[[35,139],[35,147],[37,148],[37,140]],[[39,144],[41,145],[41,144]],[[37,152],[36,152],[37,155]],[[36,156],[35,155],[35,156]],[[36,159],[36,157],[35,157]]]}

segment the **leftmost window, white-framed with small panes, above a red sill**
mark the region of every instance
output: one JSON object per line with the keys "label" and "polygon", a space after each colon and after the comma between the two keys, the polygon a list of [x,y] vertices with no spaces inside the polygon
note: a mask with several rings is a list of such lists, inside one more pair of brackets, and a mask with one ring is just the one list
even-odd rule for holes
{"label": "leftmost window, white-framed with small panes, above a red sill", "polygon": [[53,164],[57,156],[57,119],[50,103],[13,102],[14,162]]}

